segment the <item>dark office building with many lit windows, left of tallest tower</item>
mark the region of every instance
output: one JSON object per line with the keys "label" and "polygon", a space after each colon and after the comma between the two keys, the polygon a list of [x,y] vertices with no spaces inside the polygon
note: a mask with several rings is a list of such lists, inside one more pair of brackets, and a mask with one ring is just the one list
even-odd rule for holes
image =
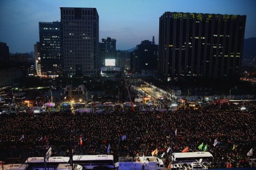
{"label": "dark office building with many lit windows, left of tallest tower", "polygon": [[39,22],[39,37],[41,74],[47,76],[61,75],[61,23]]}

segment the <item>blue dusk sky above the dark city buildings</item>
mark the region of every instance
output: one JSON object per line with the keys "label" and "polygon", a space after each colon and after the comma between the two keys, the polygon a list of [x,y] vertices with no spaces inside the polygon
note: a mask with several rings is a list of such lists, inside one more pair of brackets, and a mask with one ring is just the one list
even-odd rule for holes
{"label": "blue dusk sky above the dark city buildings", "polygon": [[159,17],[167,11],[246,15],[245,38],[256,37],[255,0],[1,0],[0,42],[7,43],[10,53],[34,51],[39,42],[38,22],[60,21],[60,7],[97,8],[100,42],[114,38],[117,50],[134,48],[153,35],[159,44]]}

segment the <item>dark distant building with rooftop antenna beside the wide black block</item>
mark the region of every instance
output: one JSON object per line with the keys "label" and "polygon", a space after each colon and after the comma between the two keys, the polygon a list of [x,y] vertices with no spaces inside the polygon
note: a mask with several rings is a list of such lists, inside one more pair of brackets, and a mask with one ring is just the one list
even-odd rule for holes
{"label": "dark distant building with rooftop antenna beside the wide black block", "polygon": [[142,69],[156,70],[158,60],[158,45],[153,41],[144,40],[141,44],[136,45],[136,49],[132,51],[132,72],[134,74],[141,74]]}

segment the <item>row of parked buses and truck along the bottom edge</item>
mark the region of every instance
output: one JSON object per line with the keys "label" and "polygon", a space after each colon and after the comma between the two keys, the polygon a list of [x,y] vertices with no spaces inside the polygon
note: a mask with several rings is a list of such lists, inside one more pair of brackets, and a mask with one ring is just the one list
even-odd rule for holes
{"label": "row of parked buses and truck along the bottom edge", "polygon": [[[185,153],[174,153],[173,163],[178,163],[183,166],[189,166],[189,164],[199,161],[202,159],[202,163],[207,166],[213,162],[213,156],[210,152],[185,152]],[[60,164],[62,166],[68,167],[70,162],[70,157],[50,157],[46,162],[46,168],[48,170],[64,170],[65,168],[58,168]],[[136,166],[135,166],[136,164]],[[151,166],[146,166],[146,164]],[[3,170],[45,170],[44,157],[29,157],[25,162],[25,167],[21,168],[3,168]],[[97,155],[75,155],[73,156],[73,165],[77,166],[77,170],[93,169],[95,167],[105,167],[107,169],[122,169],[128,170],[131,166],[134,169],[142,167],[144,165],[144,170],[164,170],[164,163],[161,159],[157,157],[120,157],[119,162],[114,163],[114,156],[110,154],[97,154]],[[18,167],[18,165],[17,165]],[[140,168],[139,168],[140,169]]]}

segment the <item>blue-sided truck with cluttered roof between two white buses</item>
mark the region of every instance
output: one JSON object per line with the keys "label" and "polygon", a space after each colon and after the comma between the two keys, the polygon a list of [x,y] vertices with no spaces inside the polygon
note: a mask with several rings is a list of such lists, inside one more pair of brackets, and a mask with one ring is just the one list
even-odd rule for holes
{"label": "blue-sided truck with cluttered roof between two white buses", "polygon": [[152,156],[119,157],[119,162],[115,163],[115,167],[119,170],[164,170],[164,162]]}

